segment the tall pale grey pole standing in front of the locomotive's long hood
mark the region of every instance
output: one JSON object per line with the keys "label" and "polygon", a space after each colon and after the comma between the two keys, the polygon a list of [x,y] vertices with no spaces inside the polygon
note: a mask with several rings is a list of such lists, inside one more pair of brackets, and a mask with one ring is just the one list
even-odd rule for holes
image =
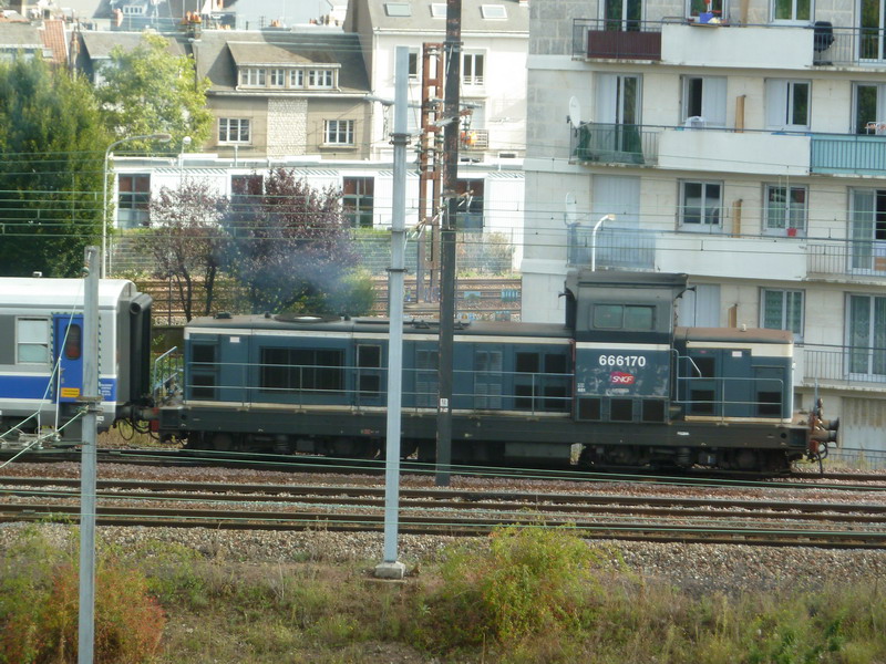
{"label": "tall pale grey pole standing in front of the locomotive's long hood", "polygon": [[391,216],[391,269],[388,271],[388,446],[384,466],[384,561],[375,575],[402,579],[405,566],[396,560],[400,510],[400,433],[403,390],[403,272],[406,250],[406,110],[409,48],[396,46],[394,59],[394,179]]}

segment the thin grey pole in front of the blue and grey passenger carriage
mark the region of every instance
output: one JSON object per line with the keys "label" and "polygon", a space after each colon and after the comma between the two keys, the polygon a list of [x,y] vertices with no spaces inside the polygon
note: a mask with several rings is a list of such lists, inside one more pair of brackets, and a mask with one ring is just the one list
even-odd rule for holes
{"label": "thin grey pole in front of the blue and grey passenger carriage", "polygon": [[[92,664],[95,642],[95,483],[97,464],[99,391],[99,266],[97,248],[86,247],[86,289],[83,301],[83,446],[80,461],[80,623],[78,664]],[[104,257],[102,257],[104,258]],[[61,352],[61,351],[60,351]]]}

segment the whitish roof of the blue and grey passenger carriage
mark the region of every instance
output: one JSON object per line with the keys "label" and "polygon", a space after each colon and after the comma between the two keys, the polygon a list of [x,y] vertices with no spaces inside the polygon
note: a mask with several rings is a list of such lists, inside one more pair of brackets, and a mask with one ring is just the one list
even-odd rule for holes
{"label": "whitish roof of the blue and grey passenger carriage", "polygon": [[[83,279],[43,279],[8,277],[0,279],[0,307],[62,310],[83,307],[86,282]],[[99,281],[99,307],[113,308],[120,299],[135,293],[135,284],[125,279]]]}

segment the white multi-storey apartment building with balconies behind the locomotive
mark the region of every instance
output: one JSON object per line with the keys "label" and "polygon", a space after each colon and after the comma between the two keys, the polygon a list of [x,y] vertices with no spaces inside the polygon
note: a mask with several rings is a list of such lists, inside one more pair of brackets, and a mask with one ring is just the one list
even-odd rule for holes
{"label": "white multi-storey apartment building with balconies behind the locomotive", "polygon": [[679,324],[791,330],[795,405],[886,455],[883,0],[534,0],[525,320],[573,266],[686,272]]}

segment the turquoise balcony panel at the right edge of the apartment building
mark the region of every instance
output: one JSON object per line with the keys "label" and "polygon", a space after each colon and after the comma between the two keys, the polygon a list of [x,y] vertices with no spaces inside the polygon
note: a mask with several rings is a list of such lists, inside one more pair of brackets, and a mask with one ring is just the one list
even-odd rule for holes
{"label": "turquoise balcony panel at the right edge of the apartment building", "polygon": [[812,173],[832,175],[886,175],[886,135],[815,134],[812,136]]}

